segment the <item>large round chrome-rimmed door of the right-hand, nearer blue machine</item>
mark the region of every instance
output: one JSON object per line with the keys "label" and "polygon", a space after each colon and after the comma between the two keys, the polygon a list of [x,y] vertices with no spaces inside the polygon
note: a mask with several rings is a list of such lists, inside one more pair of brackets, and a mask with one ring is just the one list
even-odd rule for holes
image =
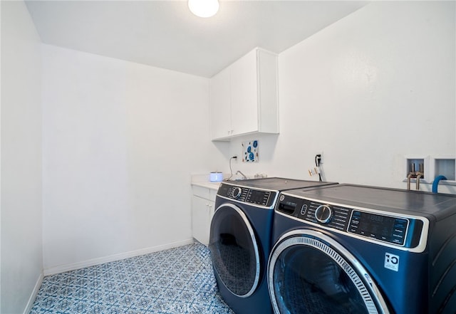
{"label": "large round chrome-rimmed door of the right-hand, nearer blue machine", "polygon": [[281,237],[269,256],[268,286],[275,313],[389,313],[361,263],[318,231]]}

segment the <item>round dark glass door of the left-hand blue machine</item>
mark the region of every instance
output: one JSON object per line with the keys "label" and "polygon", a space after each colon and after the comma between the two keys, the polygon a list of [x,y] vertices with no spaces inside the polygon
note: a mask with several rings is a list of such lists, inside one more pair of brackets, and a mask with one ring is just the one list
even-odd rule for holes
{"label": "round dark glass door of the left-hand blue machine", "polygon": [[224,286],[240,297],[252,295],[260,276],[259,245],[249,219],[238,206],[222,204],[216,209],[209,249]]}

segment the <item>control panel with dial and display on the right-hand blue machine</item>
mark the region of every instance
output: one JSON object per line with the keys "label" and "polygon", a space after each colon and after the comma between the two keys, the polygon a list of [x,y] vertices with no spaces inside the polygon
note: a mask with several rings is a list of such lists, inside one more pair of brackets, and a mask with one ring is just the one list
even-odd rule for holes
{"label": "control panel with dial and display on the right-hand blue machine", "polygon": [[323,229],[333,229],[339,233],[405,248],[418,246],[423,232],[423,221],[417,217],[352,208],[285,194],[280,194],[276,211]]}

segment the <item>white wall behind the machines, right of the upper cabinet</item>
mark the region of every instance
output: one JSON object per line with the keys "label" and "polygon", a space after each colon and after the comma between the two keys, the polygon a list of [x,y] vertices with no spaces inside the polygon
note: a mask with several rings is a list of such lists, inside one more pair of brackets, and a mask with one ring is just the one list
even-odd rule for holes
{"label": "white wall behind the machines, right of the upper cabinet", "polygon": [[455,16],[453,1],[373,2],[281,53],[280,135],[234,171],[313,179],[323,152],[328,181],[405,188],[403,156],[455,155]]}

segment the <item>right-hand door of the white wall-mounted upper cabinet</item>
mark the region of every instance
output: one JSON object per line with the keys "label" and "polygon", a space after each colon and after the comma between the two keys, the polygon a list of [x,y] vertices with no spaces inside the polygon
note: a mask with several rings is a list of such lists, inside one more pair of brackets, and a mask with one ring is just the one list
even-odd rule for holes
{"label": "right-hand door of the white wall-mounted upper cabinet", "polygon": [[232,135],[258,131],[257,50],[230,68]]}

